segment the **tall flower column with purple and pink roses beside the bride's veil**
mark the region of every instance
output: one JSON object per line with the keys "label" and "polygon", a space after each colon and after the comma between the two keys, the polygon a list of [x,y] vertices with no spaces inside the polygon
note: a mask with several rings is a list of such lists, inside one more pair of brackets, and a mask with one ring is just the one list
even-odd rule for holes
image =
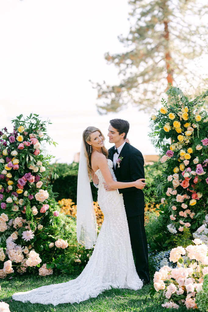
{"label": "tall flower column with purple and pink roses beside the bride's veil", "polygon": [[56,146],[47,134],[50,120],[30,114],[12,123],[12,132],[0,131],[0,278],[38,272],[42,263],[39,275],[52,274],[55,267],[64,271],[69,223],[59,214],[48,181],[57,178],[44,149],[44,142]]}

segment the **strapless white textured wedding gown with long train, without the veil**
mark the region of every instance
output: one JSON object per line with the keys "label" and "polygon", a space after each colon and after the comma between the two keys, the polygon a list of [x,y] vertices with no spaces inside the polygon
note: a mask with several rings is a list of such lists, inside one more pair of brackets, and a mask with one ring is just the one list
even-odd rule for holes
{"label": "strapless white textured wedding gown with long train, without the veil", "polygon": [[[116,181],[110,159],[108,166]],[[97,297],[111,286],[141,289],[143,283],[134,265],[123,196],[117,191],[106,192],[100,169],[96,174],[99,178],[98,203],[104,213],[104,222],[87,266],[74,280],[18,292],[12,295],[12,299],[55,306],[60,303],[79,303],[90,297]]]}

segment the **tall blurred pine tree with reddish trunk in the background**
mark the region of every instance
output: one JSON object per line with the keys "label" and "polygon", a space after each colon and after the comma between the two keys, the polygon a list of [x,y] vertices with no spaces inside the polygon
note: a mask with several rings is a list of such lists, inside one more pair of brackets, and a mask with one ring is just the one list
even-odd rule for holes
{"label": "tall blurred pine tree with reddish trunk in the background", "polygon": [[129,4],[133,8],[130,32],[119,37],[128,51],[105,55],[108,63],[119,68],[121,80],[117,85],[96,84],[102,99],[98,111],[117,112],[129,103],[148,110],[158,104],[169,84],[182,84],[193,96],[203,92],[205,80],[192,61],[206,49],[205,2],[131,0]]}

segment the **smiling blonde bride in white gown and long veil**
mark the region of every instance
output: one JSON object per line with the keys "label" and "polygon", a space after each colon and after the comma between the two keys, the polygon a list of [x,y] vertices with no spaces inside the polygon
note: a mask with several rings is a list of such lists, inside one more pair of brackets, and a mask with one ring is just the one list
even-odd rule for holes
{"label": "smiling blonde bride in white gown and long veil", "polygon": [[[42,286],[12,295],[12,299],[31,303],[74,303],[97,297],[113,288],[141,289],[143,283],[134,265],[128,223],[122,194],[110,188],[143,188],[141,179],[135,182],[117,182],[113,163],[107,159],[104,136],[95,127],[83,132],[77,183],[77,240],[94,251],[87,266],[74,280]],[[99,178],[98,203],[104,213],[104,222],[97,237],[97,223],[92,201],[89,176],[92,170]]]}

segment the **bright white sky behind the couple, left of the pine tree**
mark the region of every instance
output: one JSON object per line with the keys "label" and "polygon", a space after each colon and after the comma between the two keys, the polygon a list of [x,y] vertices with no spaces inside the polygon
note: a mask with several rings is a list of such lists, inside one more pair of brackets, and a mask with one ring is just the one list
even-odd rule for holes
{"label": "bright white sky behind the couple, left of the pine tree", "polygon": [[[125,51],[117,36],[129,30],[127,0],[4,0],[0,3],[0,128],[30,112],[52,125],[53,161],[71,163],[83,130],[109,120],[130,122],[128,138],[142,154],[156,154],[147,137],[149,115],[129,107],[100,116],[93,82],[117,82],[104,53]],[[106,147],[111,147],[106,139]]]}

